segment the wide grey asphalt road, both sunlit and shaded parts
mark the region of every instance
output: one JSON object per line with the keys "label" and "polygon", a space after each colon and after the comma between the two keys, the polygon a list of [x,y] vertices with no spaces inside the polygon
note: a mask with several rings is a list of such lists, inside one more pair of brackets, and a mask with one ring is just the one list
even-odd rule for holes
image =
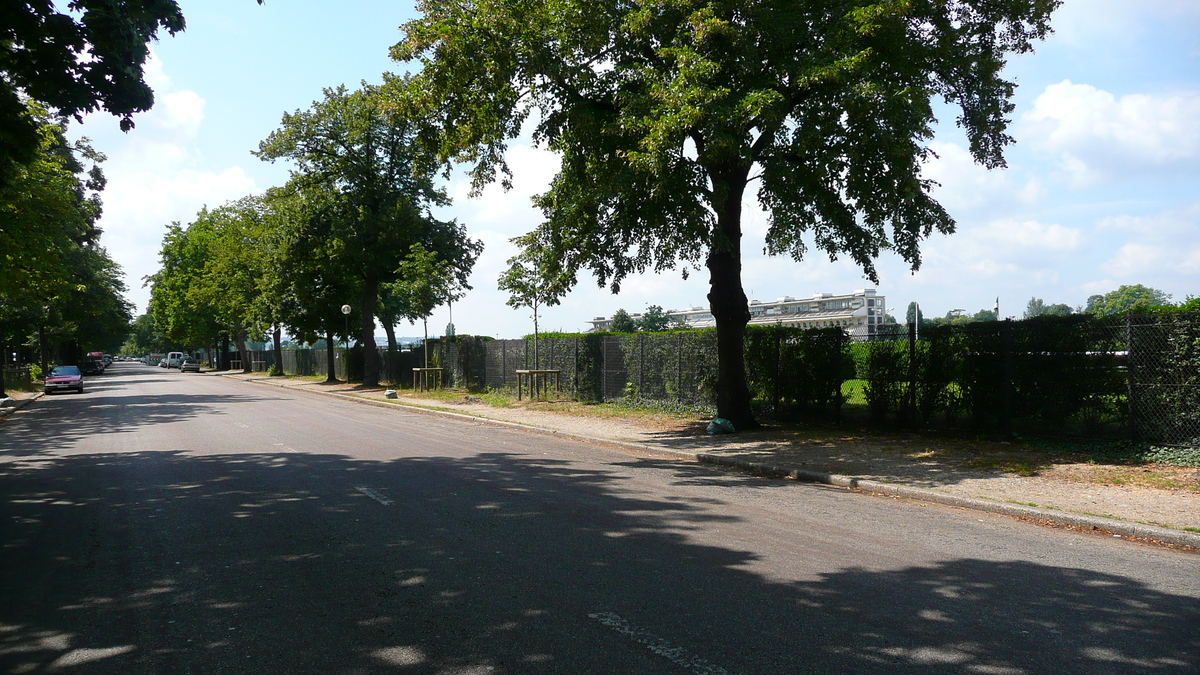
{"label": "wide grey asphalt road, both sunlit and shaded parts", "polygon": [[0,543],[0,673],[1200,673],[1196,555],[136,364]]}

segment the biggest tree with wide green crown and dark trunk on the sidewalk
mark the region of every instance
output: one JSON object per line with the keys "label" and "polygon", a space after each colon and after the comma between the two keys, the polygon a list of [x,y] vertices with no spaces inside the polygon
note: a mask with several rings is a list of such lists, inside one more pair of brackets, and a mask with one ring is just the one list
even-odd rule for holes
{"label": "biggest tree with wide green crown and dark trunk on the sidewalk", "polygon": [[932,101],[956,106],[972,156],[1002,167],[1009,54],[1050,30],[1058,0],[428,0],[397,60],[422,135],[506,181],[526,124],[562,156],[536,246],[616,292],[679,262],[709,273],[718,413],[756,425],[742,341],[742,208],[757,185],[772,253],[848,256],[877,281],[892,250],[954,221],[930,196]]}

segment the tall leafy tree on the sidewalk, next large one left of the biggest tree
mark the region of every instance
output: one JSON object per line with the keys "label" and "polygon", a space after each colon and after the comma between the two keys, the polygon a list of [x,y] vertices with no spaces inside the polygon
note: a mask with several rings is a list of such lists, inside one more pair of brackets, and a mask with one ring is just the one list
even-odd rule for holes
{"label": "tall leafy tree on the sidewalk, next large one left of the biggest tree", "polygon": [[[402,86],[402,84],[401,84]],[[468,246],[464,231],[431,214],[449,203],[434,187],[434,167],[415,143],[409,118],[364,84],[358,91],[326,89],[308,110],[284,114],[278,131],[259,144],[264,160],[294,163],[289,186],[299,193],[319,193],[320,217],[310,232],[338,273],[354,280],[359,339],[364,346],[362,384],[379,382],[374,347],[374,317],[379,288],[396,281],[401,262],[413,244],[440,259],[461,257]],[[349,300],[349,299],[347,299]]]}

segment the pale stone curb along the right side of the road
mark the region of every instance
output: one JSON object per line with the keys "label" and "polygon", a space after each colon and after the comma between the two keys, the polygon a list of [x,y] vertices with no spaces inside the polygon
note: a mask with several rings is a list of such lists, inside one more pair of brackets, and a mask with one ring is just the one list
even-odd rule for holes
{"label": "pale stone curb along the right side of the road", "polygon": [[[487,417],[478,417],[473,414],[466,414],[460,412],[439,411],[431,410],[421,406],[414,406],[404,402],[390,402],[390,401],[376,401],[371,399],[365,399],[362,396],[356,396],[354,394],[342,394],[340,392],[319,392],[311,389],[301,389],[298,387],[288,387],[287,384],[276,384],[266,380],[247,380],[247,378],[235,378],[242,382],[252,382],[254,384],[264,384],[268,387],[277,387],[280,389],[290,389],[294,392],[304,392],[308,394],[316,394],[320,396],[334,396],[337,399],[343,399],[348,401],[355,401],[360,404],[366,404],[368,406],[392,408],[401,407],[409,412],[416,412],[422,414],[431,414],[437,417],[446,417],[451,419],[460,419],[464,422],[478,422],[484,424],[492,424],[497,426],[508,426],[511,429],[523,429],[527,431],[534,431],[538,434],[546,434],[550,436],[558,436],[560,438],[570,438],[572,441],[583,441],[587,443],[602,443],[607,446],[616,446],[620,448],[648,452],[655,454],[664,454],[674,456],[678,459],[689,459],[698,461],[700,464],[710,464],[715,466],[727,466],[731,468],[740,468],[751,473],[758,473],[762,476],[770,477],[787,477],[794,480],[803,480],[806,483],[822,483],[826,485],[834,485],[838,488],[850,488],[852,490],[859,490],[862,492],[876,494],[876,495],[890,495],[895,497],[904,497],[908,500],[917,500],[923,502],[938,503],[943,506],[966,508],[972,510],[982,510],[986,513],[995,513],[1000,515],[1008,515],[1013,518],[1027,518],[1033,520],[1043,520],[1054,522],[1057,525],[1067,525],[1070,527],[1080,527],[1084,530],[1097,530],[1102,532],[1110,532],[1112,534],[1121,534],[1123,537],[1136,537],[1139,539],[1148,539],[1152,542],[1158,542],[1163,544],[1174,544],[1180,546],[1192,546],[1200,549],[1200,533],[1188,532],[1184,530],[1172,530],[1170,527],[1159,527],[1157,525],[1144,525],[1140,522],[1128,522],[1123,520],[1114,520],[1109,518],[1100,518],[1096,515],[1081,515],[1074,514],[1064,510],[1056,510],[1040,507],[1030,507],[1022,504],[1013,504],[1006,502],[997,502],[992,500],[984,500],[978,497],[961,497],[958,495],[948,495],[946,492],[938,492],[937,490],[931,490],[929,488],[913,488],[911,485],[896,485],[893,483],[881,483],[878,480],[870,480],[866,478],[856,478],[853,476],[840,476],[836,473],[822,473],[820,471],[805,471],[794,468],[784,468],[779,466],[769,466],[764,464],[757,464],[752,461],[745,461],[733,458],[725,458],[720,455],[710,455],[706,453],[690,453],[686,450],[672,450],[665,448],[654,448],[649,446],[643,446],[640,443],[631,443],[628,441],[616,441],[608,438],[596,438],[593,436],[584,436],[582,434],[572,434],[569,431],[558,431],[556,429],[546,429],[544,426],[534,426],[530,424],[522,424],[520,422],[508,422],[504,419],[492,419]],[[32,400],[32,399],[30,399]]]}

